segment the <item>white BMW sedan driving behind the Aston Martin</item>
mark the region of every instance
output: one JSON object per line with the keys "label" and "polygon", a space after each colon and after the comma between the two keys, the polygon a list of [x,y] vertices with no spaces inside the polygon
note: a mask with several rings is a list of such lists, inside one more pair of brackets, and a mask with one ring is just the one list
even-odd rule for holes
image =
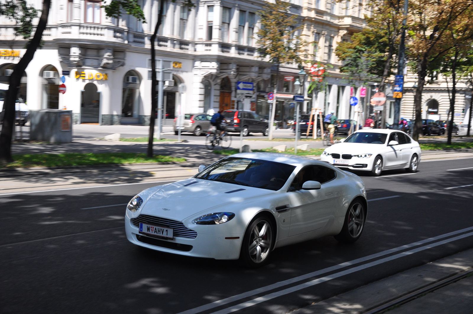
{"label": "white BMW sedan driving behind the Aston Martin", "polygon": [[342,143],[324,150],[320,160],[333,166],[370,171],[378,176],[383,170],[403,169],[416,172],[421,157],[419,143],[402,131],[359,130]]}

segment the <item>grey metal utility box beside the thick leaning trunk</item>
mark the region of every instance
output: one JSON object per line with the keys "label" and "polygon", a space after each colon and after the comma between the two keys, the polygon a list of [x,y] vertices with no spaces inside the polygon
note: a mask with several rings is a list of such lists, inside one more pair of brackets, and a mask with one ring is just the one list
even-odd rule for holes
{"label": "grey metal utility box beside the thick leaning trunk", "polygon": [[72,110],[31,110],[30,139],[50,143],[72,142]]}

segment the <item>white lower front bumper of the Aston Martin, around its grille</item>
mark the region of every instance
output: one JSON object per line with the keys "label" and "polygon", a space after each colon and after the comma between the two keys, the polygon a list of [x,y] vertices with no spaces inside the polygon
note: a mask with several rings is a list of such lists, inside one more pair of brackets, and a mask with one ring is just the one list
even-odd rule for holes
{"label": "white lower front bumper of the Aston Martin, around its grille", "polygon": [[[152,250],[186,256],[214,258],[216,260],[238,259],[244,236],[244,234],[197,234],[197,237],[193,239],[176,236],[172,240],[159,239],[158,241],[153,241],[155,239],[152,237],[140,235],[139,228],[133,226],[127,217],[125,217],[125,233],[128,241],[132,244]],[[238,239],[226,239],[226,237],[238,237]]]}

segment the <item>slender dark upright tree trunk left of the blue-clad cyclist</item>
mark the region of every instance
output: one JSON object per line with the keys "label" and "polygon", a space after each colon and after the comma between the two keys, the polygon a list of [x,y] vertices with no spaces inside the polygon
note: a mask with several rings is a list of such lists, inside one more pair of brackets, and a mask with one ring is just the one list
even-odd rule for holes
{"label": "slender dark upright tree trunk left of the blue-clad cyclist", "polygon": [[[153,35],[151,35],[151,116],[149,117],[149,138],[148,149],[146,150],[147,157],[153,157],[153,139],[154,139],[154,121],[158,109],[158,100],[156,99],[156,36],[158,35],[159,26],[163,19],[164,0],[159,1],[158,22],[154,28]],[[159,139],[158,139],[159,140]]]}

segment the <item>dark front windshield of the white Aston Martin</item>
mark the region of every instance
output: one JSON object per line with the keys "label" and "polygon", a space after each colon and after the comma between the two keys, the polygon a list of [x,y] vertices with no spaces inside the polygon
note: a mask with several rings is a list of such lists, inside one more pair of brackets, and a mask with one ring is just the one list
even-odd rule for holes
{"label": "dark front windshield of the white Aston Martin", "polygon": [[295,168],[267,160],[227,157],[205,169],[196,178],[277,191]]}

